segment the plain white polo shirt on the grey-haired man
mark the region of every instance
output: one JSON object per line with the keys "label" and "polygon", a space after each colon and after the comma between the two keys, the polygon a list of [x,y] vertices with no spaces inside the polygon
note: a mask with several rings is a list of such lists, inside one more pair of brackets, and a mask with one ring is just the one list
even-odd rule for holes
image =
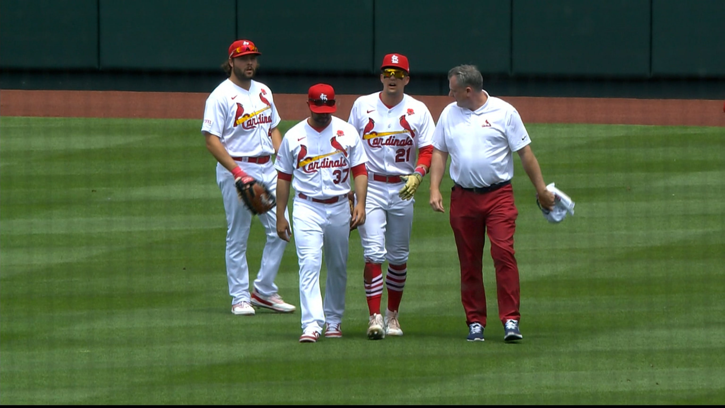
{"label": "plain white polo shirt on the grey-haired man", "polygon": [[529,143],[515,108],[490,96],[475,111],[456,102],[445,107],[433,137],[433,146],[451,156],[451,179],[466,188],[512,179],[513,152]]}

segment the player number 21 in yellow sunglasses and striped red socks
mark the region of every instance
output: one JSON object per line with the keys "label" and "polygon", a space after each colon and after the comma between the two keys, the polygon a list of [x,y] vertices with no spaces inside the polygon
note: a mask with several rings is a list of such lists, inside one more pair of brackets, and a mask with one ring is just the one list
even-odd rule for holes
{"label": "player number 21 in yellow sunglasses and striped red socks", "polygon": [[[407,57],[387,54],[381,71],[383,91],[358,98],[348,120],[368,155],[367,221],[359,230],[370,311],[368,338],[372,340],[403,335],[398,309],[407,278],[413,195],[431,166],[435,130],[428,107],[404,93],[410,82]],[[383,319],[380,308],[385,261],[388,306]]]}

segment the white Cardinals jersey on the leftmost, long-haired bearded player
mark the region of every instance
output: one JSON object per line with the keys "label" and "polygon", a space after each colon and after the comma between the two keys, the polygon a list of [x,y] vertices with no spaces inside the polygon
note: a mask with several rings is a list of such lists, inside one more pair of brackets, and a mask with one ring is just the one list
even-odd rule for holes
{"label": "white Cardinals jersey on the leftmost, long-haired bearded player", "polygon": [[271,129],[281,119],[272,91],[252,80],[249,91],[227,79],[207,98],[202,131],[219,136],[232,157],[273,155]]}

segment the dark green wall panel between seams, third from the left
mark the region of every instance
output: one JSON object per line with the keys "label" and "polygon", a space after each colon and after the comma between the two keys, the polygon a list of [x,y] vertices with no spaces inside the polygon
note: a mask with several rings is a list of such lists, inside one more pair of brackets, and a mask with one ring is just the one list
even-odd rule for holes
{"label": "dark green wall panel between seams, third from the left", "polygon": [[237,3],[237,35],[254,41],[262,70],[370,73],[373,0]]}

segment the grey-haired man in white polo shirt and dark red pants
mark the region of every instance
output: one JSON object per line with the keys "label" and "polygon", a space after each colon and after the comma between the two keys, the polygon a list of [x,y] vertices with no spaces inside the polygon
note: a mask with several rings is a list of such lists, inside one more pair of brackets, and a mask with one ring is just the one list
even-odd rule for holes
{"label": "grey-haired man in white polo shirt and dark red pants", "polygon": [[504,340],[521,340],[518,266],[513,256],[518,216],[511,187],[513,152],[521,158],[543,208],[553,208],[554,195],[544,184],[539,162],[529,147],[531,139],[515,108],[482,89],[483,78],[473,65],[452,68],[448,80],[449,95],[455,102],[441,113],[433,136],[430,204],[434,211],[444,212],[440,184],[450,155],[450,176],[455,183],[450,224],[460,261],[460,292],[468,340],[484,340],[486,293],[482,258],[486,232],[496,269]]}

